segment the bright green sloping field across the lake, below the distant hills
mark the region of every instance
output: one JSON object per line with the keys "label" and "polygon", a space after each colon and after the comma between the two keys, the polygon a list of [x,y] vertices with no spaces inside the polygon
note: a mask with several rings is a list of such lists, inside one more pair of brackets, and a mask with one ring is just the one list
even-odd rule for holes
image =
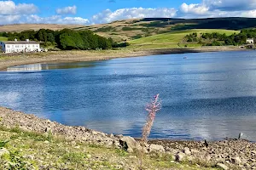
{"label": "bright green sloping field across the lake, below the distant hills", "polygon": [[239,31],[232,30],[220,30],[220,29],[193,29],[188,31],[173,31],[164,34],[158,34],[149,37],[143,37],[136,40],[131,40],[131,46],[129,48],[183,48],[185,45],[187,47],[201,47],[200,44],[195,43],[184,43],[183,38],[193,32],[200,33],[225,33],[226,35],[231,35],[233,33],[239,33]]}

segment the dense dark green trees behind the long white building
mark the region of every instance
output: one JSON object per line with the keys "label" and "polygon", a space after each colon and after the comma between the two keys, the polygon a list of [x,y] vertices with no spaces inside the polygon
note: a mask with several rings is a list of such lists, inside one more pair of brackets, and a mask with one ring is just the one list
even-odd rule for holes
{"label": "dense dark green trees behind the long white building", "polygon": [[63,50],[81,49],[96,50],[109,49],[128,46],[128,42],[113,42],[112,38],[101,37],[92,31],[73,31],[63,29],[61,31],[52,31],[41,29],[39,31],[21,31],[21,32],[0,32],[0,37],[8,37],[9,41],[25,41],[30,39],[44,43],[45,46],[54,46]]}

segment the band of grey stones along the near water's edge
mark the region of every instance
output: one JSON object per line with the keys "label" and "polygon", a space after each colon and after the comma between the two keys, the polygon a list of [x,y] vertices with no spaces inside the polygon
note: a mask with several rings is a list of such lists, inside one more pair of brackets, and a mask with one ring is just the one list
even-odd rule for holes
{"label": "band of grey stones along the near water's edge", "polygon": [[[38,133],[52,133],[71,141],[99,144],[107,148],[126,150],[129,153],[141,150],[138,140],[123,135],[113,135],[86,127],[69,127],[58,122],[38,118],[19,111],[0,107],[0,126],[19,127]],[[202,167],[220,169],[256,169],[256,144],[244,139],[222,141],[172,141],[149,140],[144,151],[172,156],[173,162],[193,162]],[[1,153],[1,150],[0,150]]]}

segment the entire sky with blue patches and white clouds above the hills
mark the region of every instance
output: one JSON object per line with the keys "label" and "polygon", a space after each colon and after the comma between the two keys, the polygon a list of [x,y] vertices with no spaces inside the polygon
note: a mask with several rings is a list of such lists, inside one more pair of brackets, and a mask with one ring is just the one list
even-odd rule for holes
{"label": "entire sky with blue patches and white clouds above the hills", "polygon": [[256,0],[0,0],[0,25],[93,25],[146,17],[230,16],[256,17]]}

